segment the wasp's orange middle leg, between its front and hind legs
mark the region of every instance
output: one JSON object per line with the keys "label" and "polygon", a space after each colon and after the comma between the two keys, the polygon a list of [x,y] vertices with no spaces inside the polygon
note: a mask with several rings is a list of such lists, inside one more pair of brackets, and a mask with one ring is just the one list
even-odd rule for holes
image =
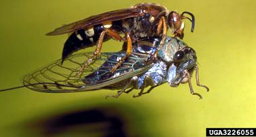
{"label": "wasp's orange middle leg, between its front and hind legs", "polygon": [[130,34],[126,33],[126,41],[127,41],[127,50],[126,50],[126,56],[122,57],[117,64],[115,64],[115,66],[113,66],[113,68],[111,69],[111,73],[114,73],[115,70],[118,68],[118,66],[120,66],[124,60],[130,56],[132,54],[132,39],[130,38]]}

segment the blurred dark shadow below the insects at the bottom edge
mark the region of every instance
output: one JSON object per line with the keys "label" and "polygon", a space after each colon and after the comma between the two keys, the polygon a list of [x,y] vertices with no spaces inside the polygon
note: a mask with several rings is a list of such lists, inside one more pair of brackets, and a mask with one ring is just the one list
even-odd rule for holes
{"label": "blurred dark shadow below the insects at the bottom edge", "polygon": [[91,109],[41,119],[29,126],[38,136],[122,137],[128,136],[124,121],[125,117],[118,112]]}

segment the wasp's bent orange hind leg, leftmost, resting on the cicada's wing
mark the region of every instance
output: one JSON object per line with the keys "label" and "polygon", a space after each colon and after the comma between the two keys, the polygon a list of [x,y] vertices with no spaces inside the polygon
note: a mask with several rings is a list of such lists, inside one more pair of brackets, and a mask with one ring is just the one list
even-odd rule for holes
{"label": "wasp's bent orange hind leg, leftmost, resting on the cicada's wing", "polygon": [[113,38],[115,40],[123,41],[123,38],[118,33],[115,33],[114,31],[111,31],[110,29],[105,28],[105,30],[102,33],[100,33],[100,37],[98,37],[98,41],[96,43],[96,49],[95,49],[93,55],[83,64],[83,66],[81,66],[79,71],[77,71],[76,77],[81,75],[81,73],[84,71],[84,68],[86,68],[90,64],[90,62],[92,62],[92,60],[94,58],[98,58],[100,56],[100,52],[103,47],[103,40],[104,40],[106,33],[107,33],[107,35],[109,35],[111,38]]}

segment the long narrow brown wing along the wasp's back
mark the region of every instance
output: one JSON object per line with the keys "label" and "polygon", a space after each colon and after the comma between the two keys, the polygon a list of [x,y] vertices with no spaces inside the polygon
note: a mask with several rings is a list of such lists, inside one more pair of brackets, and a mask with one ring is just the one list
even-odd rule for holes
{"label": "long narrow brown wing along the wasp's back", "polygon": [[66,24],[54,31],[47,33],[46,35],[62,35],[65,33],[72,33],[81,28],[88,28],[97,24],[103,24],[105,22],[112,22],[115,20],[122,20],[125,18],[131,18],[139,15],[139,11],[135,8],[119,9],[111,12],[105,12],[103,14],[98,14],[96,16],[90,16],[84,20],[79,20],[71,24]]}

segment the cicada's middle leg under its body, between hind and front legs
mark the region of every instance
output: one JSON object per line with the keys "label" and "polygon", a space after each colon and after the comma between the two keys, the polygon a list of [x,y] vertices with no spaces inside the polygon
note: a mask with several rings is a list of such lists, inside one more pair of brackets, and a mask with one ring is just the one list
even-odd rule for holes
{"label": "cicada's middle leg under its body, between hind and front legs", "polygon": [[147,85],[151,85],[151,87],[156,87],[156,83],[153,81],[153,79],[151,79],[150,75],[145,76],[143,80],[143,85],[141,86],[141,92],[139,92],[138,95],[133,95],[133,98],[137,98],[139,96],[142,96],[143,94],[149,93],[153,88],[150,87],[150,89],[147,90],[147,92],[143,93]]}

